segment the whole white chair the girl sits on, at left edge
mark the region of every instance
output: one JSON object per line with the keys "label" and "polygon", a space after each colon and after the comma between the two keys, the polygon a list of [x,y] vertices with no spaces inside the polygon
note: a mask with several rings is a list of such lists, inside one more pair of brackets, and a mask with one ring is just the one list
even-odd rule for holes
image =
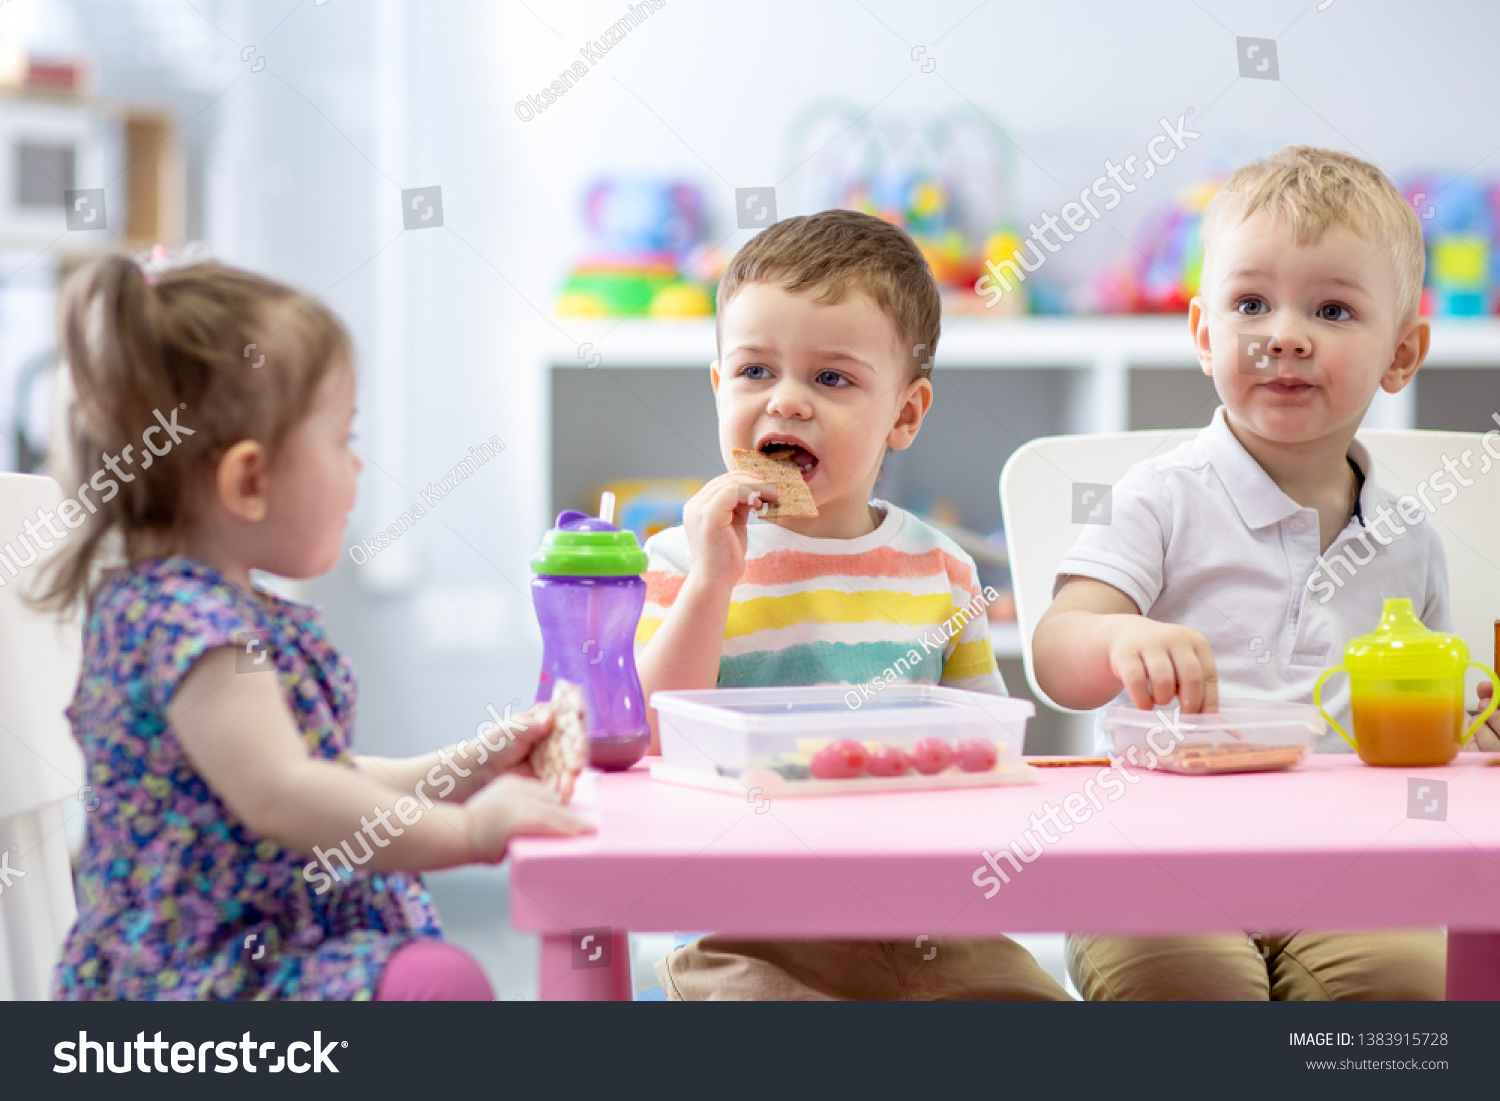
{"label": "whole white chair the girl sits on, at left edge", "polygon": [[[0,548],[28,558],[22,525],[60,501],[48,477],[0,474]],[[60,624],[21,598],[38,570],[33,562],[12,578],[0,564],[0,1000],[48,996],[75,916],[64,825],[90,798],[63,717],[78,682],[78,622]]]}

